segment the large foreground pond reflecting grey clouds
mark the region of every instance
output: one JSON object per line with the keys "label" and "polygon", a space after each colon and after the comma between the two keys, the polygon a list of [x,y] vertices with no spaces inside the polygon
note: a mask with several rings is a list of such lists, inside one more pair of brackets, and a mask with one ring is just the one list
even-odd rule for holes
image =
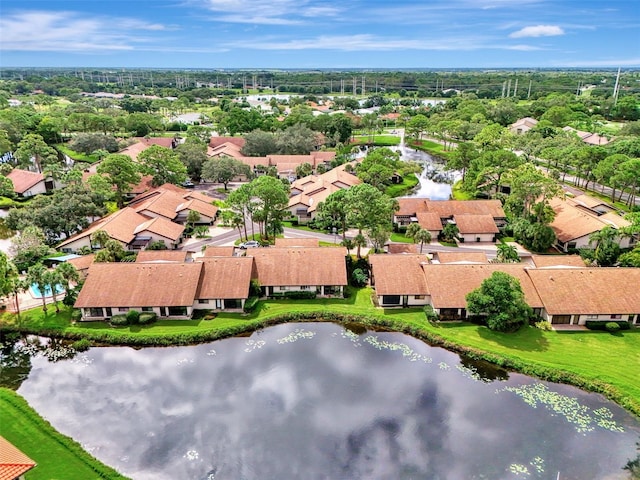
{"label": "large foreground pond reflecting grey clouds", "polygon": [[615,479],[635,457],[640,422],[599,395],[357,332],[37,355],[18,392],[137,480]]}

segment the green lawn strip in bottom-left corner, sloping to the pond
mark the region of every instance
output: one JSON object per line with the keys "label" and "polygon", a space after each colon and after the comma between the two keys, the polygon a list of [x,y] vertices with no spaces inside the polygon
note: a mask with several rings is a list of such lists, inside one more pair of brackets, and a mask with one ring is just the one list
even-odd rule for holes
{"label": "green lawn strip in bottom-left corner, sloping to the pond", "polygon": [[58,433],[15,392],[0,388],[0,435],[22,450],[37,466],[27,480],[125,479]]}

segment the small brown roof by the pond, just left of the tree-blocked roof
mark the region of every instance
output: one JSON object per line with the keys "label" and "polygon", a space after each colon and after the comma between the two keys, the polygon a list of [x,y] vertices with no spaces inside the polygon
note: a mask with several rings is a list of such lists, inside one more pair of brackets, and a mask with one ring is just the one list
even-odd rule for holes
{"label": "small brown roof by the pond, just left of the tree-blocked roof", "polygon": [[369,255],[375,280],[376,295],[428,295],[429,289],[422,266],[428,263],[424,255]]}

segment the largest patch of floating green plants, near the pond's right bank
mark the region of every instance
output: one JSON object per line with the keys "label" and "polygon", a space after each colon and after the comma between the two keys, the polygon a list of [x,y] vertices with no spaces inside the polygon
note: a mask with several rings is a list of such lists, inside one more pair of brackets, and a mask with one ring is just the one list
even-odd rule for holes
{"label": "largest patch of floating green plants, near the pond's right bank", "polygon": [[596,427],[612,432],[624,432],[624,428],[613,420],[613,414],[609,409],[603,407],[591,410],[580,404],[577,398],[549,390],[542,383],[504,387],[502,391],[515,393],[533,408],[542,405],[551,410],[552,414],[564,417],[567,422],[573,424],[578,433],[586,434],[595,430]]}

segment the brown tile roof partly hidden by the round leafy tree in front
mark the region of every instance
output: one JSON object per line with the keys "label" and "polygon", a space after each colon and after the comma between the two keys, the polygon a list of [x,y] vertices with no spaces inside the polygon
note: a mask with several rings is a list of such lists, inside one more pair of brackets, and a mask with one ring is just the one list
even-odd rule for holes
{"label": "brown tile roof partly hidden by the round leafy tree in front", "polygon": [[505,272],[520,281],[525,300],[532,308],[542,307],[542,300],[527,275],[524,265],[425,265],[424,273],[435,308],[466,308],[467,293],[478,288],[495,271]]}

